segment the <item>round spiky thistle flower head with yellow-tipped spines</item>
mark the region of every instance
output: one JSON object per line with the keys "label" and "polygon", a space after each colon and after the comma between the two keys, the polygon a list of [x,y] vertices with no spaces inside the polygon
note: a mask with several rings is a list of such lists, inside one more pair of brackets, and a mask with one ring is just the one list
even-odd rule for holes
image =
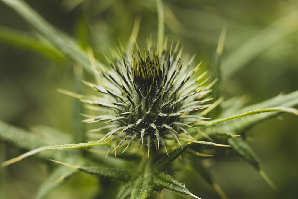
{"label": "round spiky thistle flower head with yellow-tipped spines", "polygon": [[119,140],[118,146],[127,141],[127,147],[136,142],[138,148],[155,145],[159,149],[166,147],[167,140],[178,141],[180,133],[189,135],[186,128],[205,119],[201,109],[209,107],[204,105],[211,92],[211,84],[205,85],[206,73],[192,77],[201,63],[193,67],[195,56],[189,61],[187,55],[182,57],[179,42],[175,48],[172,42],[169,50],[165,42],[159,51],[147,41],[147,49],[136,44],[130,55],[121,45],[120,49],[112,52],[114,61],[107,58],[112,70],[99,69],[104,80],[100,85],[86,82],[102,95],[82,100],[98,106],[100,112],[84,121],[107,123],[111,130],[102,140],[112,137]]}

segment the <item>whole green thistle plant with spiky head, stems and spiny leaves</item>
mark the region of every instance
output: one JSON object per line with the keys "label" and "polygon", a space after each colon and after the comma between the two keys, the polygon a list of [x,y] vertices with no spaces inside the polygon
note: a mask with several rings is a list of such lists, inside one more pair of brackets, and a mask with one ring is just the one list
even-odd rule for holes
{"label": "whole green thistle plant with spiky head, stems and spiny leaves", "polygon": [[[254,147],[250,146],[252,142],[247,130],[266,119],[279,117],[282,112],[298,115],[298,110],[295,109],[298,105],[298,91],[280,94],[251,105],[245,105],[239,96],[224,99],[222,84],[226,76],[221,72],[227,70],[226,73],[232,73],[234,70],[224,68],[222,64],[225,27],[220,33],[213,60],[204,66],[205,61],[200,62],[195,55],[184,53],[179,42],[173,42],[175,39],[172,39],[172,43],[168,43],[170,39],[167,37],[164,39],[164,25],[170,27],[169,18],[178,19],[175,19],[169,5],[157,0],[157,38],[152,41],[150,36],[147,42],[146,39],[138,39],[139,30],[142,28],[140,18],[136,17],[128,42],[125,42],[125,45],[119,42],[119,47],[110,50],[111,55],[105,55],[108,53],[102,53],[102,48],[98,53],[93,47],[91,50],[89,44],[86,48],[80,47],[79,42],[50,25],[24,1],[0,1],[15,10],[37,32],[33,37],[26,32],[21,36],[16,34],[19,36],[14,38],[16,43],[30,47],[34,43],[36,47],[32,48],[35,51],[45,49],[54,56],[61,58],[65,55],[66,60],[69,58],[72,61],[73,90],[60,85],[53,90],[57,89],[58,92],[55,93],[59,96],[62,93],[62,96],[68,95],[64,96],[65,98],[74,100],[72,112],[75,113],[71,118],[73,124],[66,124],[68,129],[73,127],[70,130],[73,134],[44,126],[25,130],[0,121],[0,139],[4,143],[3,148],[8,149],[7,157],[0,156],[0,175],[5,174],[5,178],[0,179],[1,198],[10,198],[11,194],[6,194],[5,190],[8,184],[6,181],[10,182],[7,178],[9,172],[6,170],[11,169],[13,173],[14,166],[26,167],[26,161],[33,162],[30,167],[34,169],[35,161],[42,162],[48,172],[38,184],[34,196],[28,195],[28,198],[57,198],[55,192],[58,192],[58,197],[67,195],[67,198],[86,199],[228,199],[228,195],[233,195],[234,189],[236,193],[231,198],[239,198],[239,187],[234,184],[230,186],[230,190],[229,186],[222,189],[224,183],[218,182],[212,172],[214,162],[217,167],[222,167],[221,172],[242,169],[226,167],[216,162],[220,156],[228,158],[229,152],[234,152],[259,173],[259,183],[272,189],[280,189],[275,185],[279,182],[276,179],[272,182],[270,179],[273,172],[266,175],[268,165],[263,168],[260,161],[262,158],[258,158]],[[117,2],[114,1],[115,4]],[[123,4],[121,6],[123,7]],[[152,10],[152,7],[150,9]],[[285,24],[291,21],[289,19],[297,16],[294,12],[280,19],[250,42],[243,44],[243,49],[250,47],[253,51],[255,46],[264,49],[268,46],[266,42],[276,41],[286,33],[298,30],[295,23],[286,31],[277,31],[271,35],[272,31],[279,30],[279,25],[285,27]],[[176,25],[173,26],[173,32],[179,27],[179,23]],[[7,36],[1,30],[7,33]],[[0,27],[0,38],[12,40],[12,33],[18,32]],[[173,36],[172,33],[170,35]],[[168,37],[171,37],[170,35]],[[22,36],[31,40],[25,41]],[[274,39],[268,41],[263,38]],[[261,45],[262,40],[266,43],[265,47]],[[259,56],[255,52],[247,53],[246,57],[244,54],[239,56],[243,49],[235,53],[234,59],[238,60],[236,65],[243,65],[239,58],[244,57],[245,60],[249,56]],[[100,62],[94,58],[93,51],[103,54],[102,59],[106,61]],[[96,56],[100,57],[97,54]],[[206,67],[209,70],[204,71]],[[86,91],[82,89],[82,84],[85,84]],[[89,93],[90,88],[95,90],[95,95]],[[59,101],[56,106],[60,104],[63,102]],[[84,117],[83,120],[81,116]],[[84,129],[85,126],[88,131]],[[10,154],[11,146],[21,152]],[[21,155],[18,155],[20,153]],[[29,156],[37,158],[22,161]],[[10,166],[11,164],[14,165]],[[269,165],[269,168],[271,166]],[[240,173],[244,173],[244,170],[245,168]],[[229,178],[229,184],[232,177],[235,176],[225,176]],[[236,181],[239,181],[239,178]],[[69,181],[76,183],[77,187],[66,188],[69,189],[67,194],[60,195],[59,188],[69,186]],[[247,181],[249,184],[245,177],[240,181]],[[214,190],[207,192],[204,182]],[[240,182],[236,184],[241,186]],[[229,193],[226,194],[226,190]],[[241,187],[241,190],[250,189]],[[12,193],[14,194],[16,193]],[[249,195],[247,197],[249,198]]]}

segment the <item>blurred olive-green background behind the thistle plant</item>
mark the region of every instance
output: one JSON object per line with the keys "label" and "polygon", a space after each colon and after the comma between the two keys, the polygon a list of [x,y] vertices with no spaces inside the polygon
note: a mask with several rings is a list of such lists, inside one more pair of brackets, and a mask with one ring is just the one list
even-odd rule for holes
{"label": "blurred olive-green background behind the thistle plant", "polygon": [[[136,18],[141,19],[139,46],[152,35],[157,43],[156,1],[145,0],[27,0],[57,29],[74,38],[83,49],[105,63],[103,54],[118,40],[127,44]],[[222,27],[227,27],[222,55],[222,95],[254,104],[298,88],[298,1],[163,1],[165,34],[169,40],[196,53],[208,70]],[[0,120],[23,129],[46,125],[72,133],[72,98],[56,88],[75,90],[74,64],[63,54],[45,50],[30,41],[38,33],[12,9],[0,2]],[[79,69],[80,70],[80,69]],[[90,79],[84,73],[84,79]],[[230,198],[297,198],[297,116],[284,114],[249,129],[250,144],[277,190],[273,191],[251,166],[233,153],[218,155],[209,162],[216,180]],[[0,141],[0,160],[23,151]],[[198,174],[177,172],[188,189],[201,198],[219,198]],[[49,168],[37,158],[27,158],[1,172],[6,198],[32,198]],[[196,181],[188,176],[197,175]],[[87,180],[86,180],[87,179]],[[116,187],[87,174],[77,175],[49,198],[107,197]],[[4,187],[4,186],[3,186]],[[78,189],[80,187],[80,189]],[[82,188],[83,187],[83,188]],[[200,187],[198,189],[197,187]],[[1,189],[1,188],[0,188]],[[77,191],[80,190],[80,191]],[[163,198],[190,198],[162,191]],[[2,196],[0,198],[2,198]],[[156,193],[153,194],[156,196]],[[160,197],[160,196],[156,196]]]}

